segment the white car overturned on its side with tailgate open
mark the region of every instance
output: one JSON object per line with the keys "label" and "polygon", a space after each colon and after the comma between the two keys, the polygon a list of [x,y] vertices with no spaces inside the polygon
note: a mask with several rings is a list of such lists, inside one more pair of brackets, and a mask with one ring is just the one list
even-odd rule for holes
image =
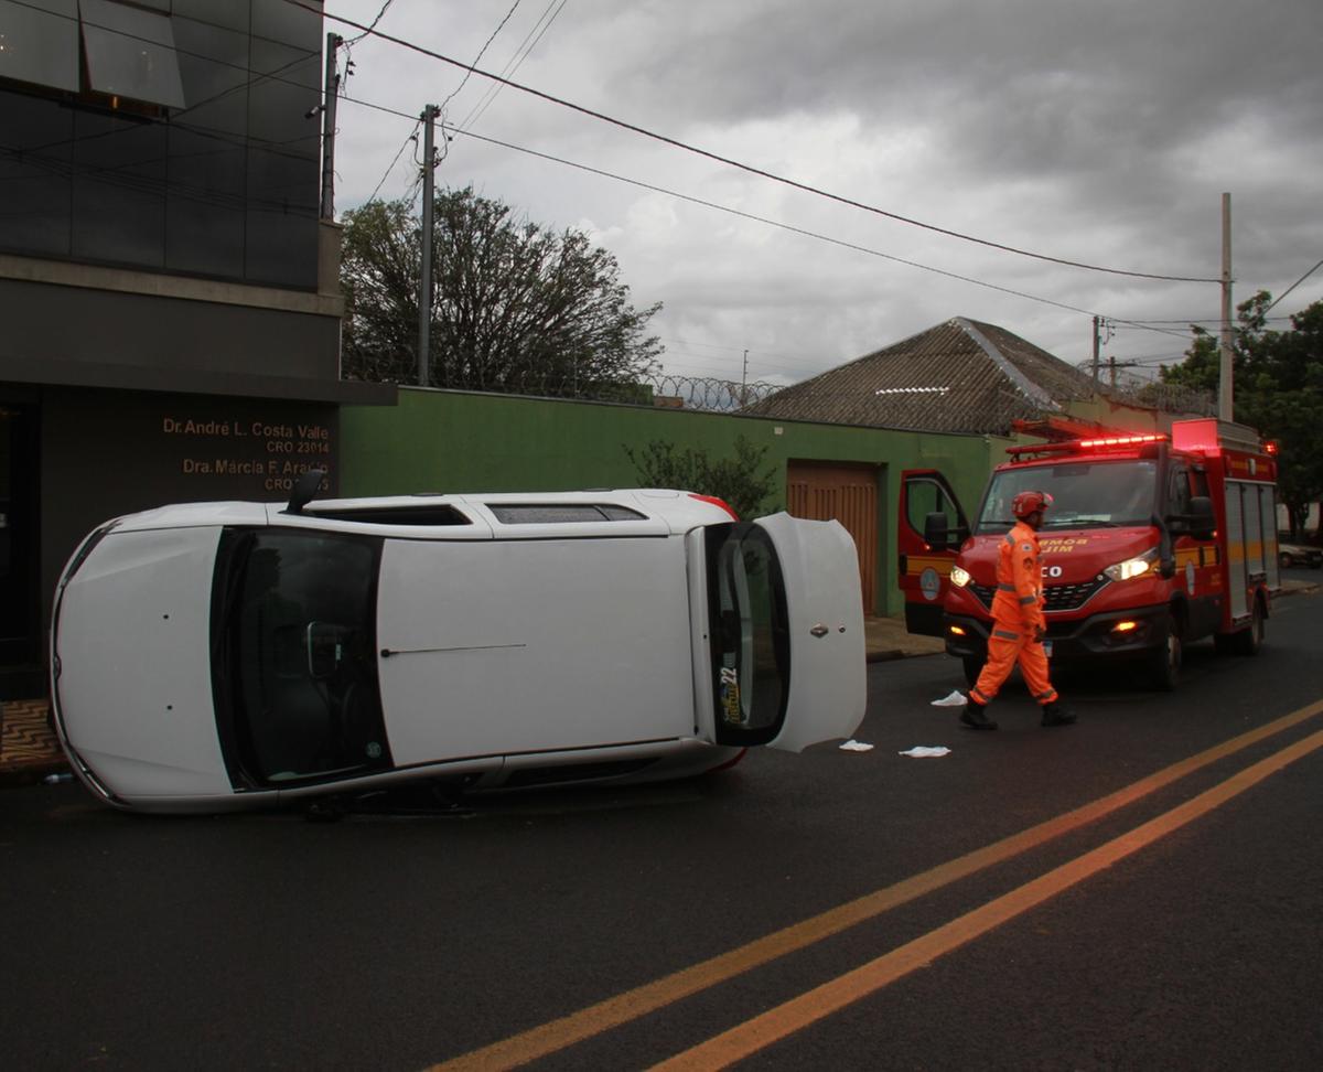
{"label": "white car overturned on its side with tailgate open", "polygon": [[119,517],[69,561],[52,703],[101,799],[651,781],[863,719],[835,521],[665,490],[310,496]]}

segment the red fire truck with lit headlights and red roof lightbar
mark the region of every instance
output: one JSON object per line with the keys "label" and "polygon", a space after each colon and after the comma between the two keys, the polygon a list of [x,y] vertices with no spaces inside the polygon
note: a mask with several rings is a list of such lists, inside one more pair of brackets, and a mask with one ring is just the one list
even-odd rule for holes
{"label": "red fire truck with lit headlights and red roof lightbar", "polygon": [[1242,425],[1011,447],[972,527],[935,470],[902,478],[900,578],[912,633],[946,638],[972,683],[987,654],[998,544],[1020,491],[1053,498],[1039,540],[1053,663],[1125,662],[1175,687],[1212,637],[1253,655],[1279,589],[1274,446]]}

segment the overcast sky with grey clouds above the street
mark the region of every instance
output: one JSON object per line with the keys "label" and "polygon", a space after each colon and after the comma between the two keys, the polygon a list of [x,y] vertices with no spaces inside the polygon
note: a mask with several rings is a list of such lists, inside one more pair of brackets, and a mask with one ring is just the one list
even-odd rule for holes
{"label": "overcast sky with grey clouds above the street", "polygon": [[[325,12],[353,61],[337,210],[415,191],[407,139],[441,105],[452,140],[438,187],[591,234],[635,304],[664,303],[654,330],[677,375],[740,380],[747,351],[750,381],[796,381],[951,316],[1077,363],[1097,314],[1103,355],[1151,376],[1179,360],[1188,322],[1216,326],[1224,192],[1237,302],[1278,296],[1323,259],[1319,0]],[[398,41],[335,19],[378,13]],[[1274,315],[1320,298],[1323,269]]]}

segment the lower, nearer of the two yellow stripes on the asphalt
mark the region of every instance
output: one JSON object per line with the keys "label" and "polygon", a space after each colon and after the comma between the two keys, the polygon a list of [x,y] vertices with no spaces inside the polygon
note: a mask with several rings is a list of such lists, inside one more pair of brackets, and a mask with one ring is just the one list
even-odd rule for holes
{"label": "lower, nearer of the two yellow stripes on the asphalt", "polygon": [[1261,760],[1225,782],[1200,793],[1192,801],[1122,834],[1103,846],[1062,864],[1046,875],[1025,883],[1009,893],[960,916],[945,926],[930,930],[906,945],[893,949],[861,967],[826,982],[798,998],[746,1020],[738,1027],[700,1043],[692,1050],[654,1065],[654,1072],[679,1069],[725,1068],[755,1053],[774,1042],[787,1038],[816,1020],[840,1011],[848,1005],[867,998],[882,987],[931,963],[938,957],[959,949],[996,926],[1028,912],[1085,879],[1111,867],[1118,860],[1146,848],[1174,830],[1179,830],[1201,815],[1226,803],[1246,789],[1258,785],[1287,764],[1295,762],[1323,748],[1323,731],[1297,741],[1281,752]]}

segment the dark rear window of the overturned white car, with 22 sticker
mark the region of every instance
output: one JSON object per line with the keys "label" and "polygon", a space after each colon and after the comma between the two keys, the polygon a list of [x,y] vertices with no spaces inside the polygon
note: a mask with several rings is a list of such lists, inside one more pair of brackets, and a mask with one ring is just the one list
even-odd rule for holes
{"label": "dark rear window of the overturned white car, with 22 sticker", "polygon": [[713,525],[706,540],[718,740],[766,744],[781,731],[790,686],[781,564],[757,525]]}

